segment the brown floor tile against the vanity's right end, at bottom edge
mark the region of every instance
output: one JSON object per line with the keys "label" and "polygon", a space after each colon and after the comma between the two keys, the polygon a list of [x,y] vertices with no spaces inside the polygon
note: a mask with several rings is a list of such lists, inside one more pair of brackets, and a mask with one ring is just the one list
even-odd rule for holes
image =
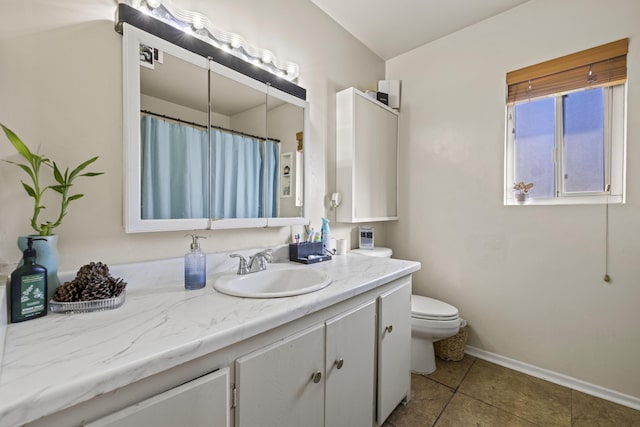
{"label": "brown floor tile against the vanity's right end, at bottom edge", "polygon": [[411,375],[411,400],[399,405],[387,418],[385,424],[394,427],[431,427],[444,407],[453,390],[422,375]]}

